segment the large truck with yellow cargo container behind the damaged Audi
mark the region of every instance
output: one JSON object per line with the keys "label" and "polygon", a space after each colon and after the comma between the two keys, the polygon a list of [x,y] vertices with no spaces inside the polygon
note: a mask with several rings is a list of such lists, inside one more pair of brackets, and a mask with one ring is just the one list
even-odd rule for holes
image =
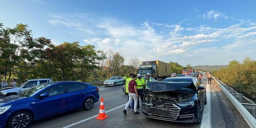
{"label": "large truck with yellow cargo container behind the damaged Audi", "polygon": [[141,76],[145,76],[147,73],[151,74],[151,77],[158,81],[171,76],[171,65],[159,60],[156,61],[144,61],[140,64],[138,73]]}

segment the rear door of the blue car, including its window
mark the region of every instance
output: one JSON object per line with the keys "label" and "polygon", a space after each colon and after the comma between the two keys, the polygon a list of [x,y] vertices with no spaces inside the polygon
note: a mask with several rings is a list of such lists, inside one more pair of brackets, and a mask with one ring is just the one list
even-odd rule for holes
{"label": "rear door of the blue car, including its window", "polygon": [[83,90],[80,90],[79,83],[67,83],[67,103],[68,108],[77,108],[82,106],[83,97],[85,93]]}

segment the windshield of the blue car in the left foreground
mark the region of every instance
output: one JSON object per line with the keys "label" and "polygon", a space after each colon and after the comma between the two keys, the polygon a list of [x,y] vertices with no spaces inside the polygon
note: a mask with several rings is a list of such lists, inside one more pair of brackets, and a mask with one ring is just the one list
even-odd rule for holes
{"label": "windshield of the blue car in the left foreground", "polygon": [[51,85],[52,83],[44,83],[44,84],[40,84],[40,85],[37,85],[35,87],[32,87],[24,92],[22,92],[20,94],[20,96],[24,96],[24,97],[30,97],[32,96],[33,94],[41,91],[42,89],[48,87],[49,85]]}

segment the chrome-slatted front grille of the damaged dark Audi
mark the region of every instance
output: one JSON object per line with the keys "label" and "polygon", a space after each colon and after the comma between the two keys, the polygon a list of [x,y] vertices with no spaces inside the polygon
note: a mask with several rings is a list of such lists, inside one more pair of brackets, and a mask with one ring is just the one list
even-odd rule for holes
{"label": "chrome-slatted front grille of the damaged dark Audi", "polygon": [[[154,118],[165,119],[165,120],[176,120],[180,114],[181,108],[179,108],[175,104],[164,105],[164,106],[165,106],[164,109],[147,108],[147,113],[149,114],[149,116]],[[142,109],[142,111],[146,112],[145,109]]]}

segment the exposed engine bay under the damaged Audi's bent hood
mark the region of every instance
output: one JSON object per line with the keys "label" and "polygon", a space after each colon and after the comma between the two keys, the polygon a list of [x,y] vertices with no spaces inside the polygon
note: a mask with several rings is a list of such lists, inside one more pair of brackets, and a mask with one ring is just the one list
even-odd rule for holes
{"label": "exposed engine bay under the damaged Audi's bent hood", "polygon": [[186,102],[191,99],[193,93],[190,92],[153,92],[148,91],[144,94],[143,101],[148,107],[155,107],[156,105],[171,105],[173,103]]}

